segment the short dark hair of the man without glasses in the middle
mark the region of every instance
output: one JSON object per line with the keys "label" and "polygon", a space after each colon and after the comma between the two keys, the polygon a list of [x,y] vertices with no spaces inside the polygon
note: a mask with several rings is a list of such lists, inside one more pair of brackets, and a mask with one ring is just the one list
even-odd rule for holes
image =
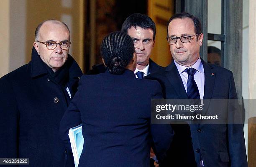
{"label": "short dark hair of the man without glasses in the middle", "polygon": [[128,16],[122,25],[122,32],[127,33],[131,27],[141,27],[143,29],[151,29],[153,31],[153,40],[156,38],[156,25],[154,21],[147,15],[141,13],[133,13]]}

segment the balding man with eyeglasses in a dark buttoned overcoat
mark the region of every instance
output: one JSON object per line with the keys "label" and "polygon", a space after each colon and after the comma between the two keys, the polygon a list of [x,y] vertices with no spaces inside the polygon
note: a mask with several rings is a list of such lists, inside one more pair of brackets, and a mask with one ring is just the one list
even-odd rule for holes
{"label": "balding man with eyeglasses in a dark buttoned overcoat", "polygon": [[0,158],[29,158],[28,167],[74,166],[58,135],[82,75],[70,45],[64,22],[41,22],[31,61],[0,79]]}

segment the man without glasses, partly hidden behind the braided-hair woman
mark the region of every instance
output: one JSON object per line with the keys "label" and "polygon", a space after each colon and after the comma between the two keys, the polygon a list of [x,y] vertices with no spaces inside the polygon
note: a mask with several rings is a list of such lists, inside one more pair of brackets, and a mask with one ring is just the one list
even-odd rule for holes
{"label": "man without glasses, partly hidden behind the braided-hair woman", "polygon": [[[154,48],[156,38],[156,25],[147,15],[135,13],[126,18],[122,25],[122,32],[127,33],[134,42],[137,53],[136,77],[143,78],[162,67],[157,65],[149,57]],[[106,68],[103,64],[93,65],[87,75],[104,73]]]}

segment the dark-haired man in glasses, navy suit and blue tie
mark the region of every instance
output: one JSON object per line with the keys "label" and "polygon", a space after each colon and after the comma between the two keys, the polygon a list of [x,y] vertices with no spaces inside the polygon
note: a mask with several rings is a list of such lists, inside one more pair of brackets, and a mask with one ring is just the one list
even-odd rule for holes
{"label": "dark-haired man in glasses, navy suit and blue tie", "polygon": [[[197,17],[173,15],[167,40],[174,61],[148,75],[168,99],[236,99],[231,71],[205,63],[199,55],[203,34]],[[242,124],[173,124],[174,140],[161,167],[247,167]]]}

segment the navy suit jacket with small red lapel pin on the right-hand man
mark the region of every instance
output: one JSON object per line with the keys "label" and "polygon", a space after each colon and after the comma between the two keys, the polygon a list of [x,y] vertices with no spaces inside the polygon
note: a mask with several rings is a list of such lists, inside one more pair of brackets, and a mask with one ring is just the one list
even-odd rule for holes
{"label": "navy suit jacket with small red lapel pin on the right-hand man", "polygon": [[[237,98],[231,71],[204,61],[202,65],[205,71],[204,99]],[[188,98],[174,62],[145,78],[160,82],[164,98]],[[197,167],[200,153],[205,167],[247,167],[243,125],[174,124],[172,128],[174,140],[161,167]]]}

